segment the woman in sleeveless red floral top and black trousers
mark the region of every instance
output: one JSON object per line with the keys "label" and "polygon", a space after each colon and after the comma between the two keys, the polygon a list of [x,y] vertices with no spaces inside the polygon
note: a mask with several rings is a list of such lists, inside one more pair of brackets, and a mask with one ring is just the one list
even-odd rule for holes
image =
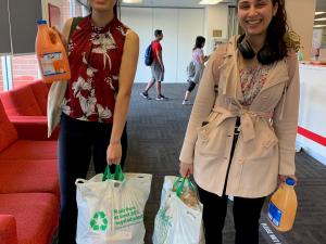
{"label": "woman in sleeveless red floral top and black trousers", "polygon": [[72,70],[59,138],[60,244],[75,243],[75,180],[86,178],[90,158],[99,174],[106,164],[123,165],[126,156],[125,124],[139,39],[116,18],[117,1],[89,0],[91,14],[78,22],[68,43],[73,20],[59,33],[67,43]]}

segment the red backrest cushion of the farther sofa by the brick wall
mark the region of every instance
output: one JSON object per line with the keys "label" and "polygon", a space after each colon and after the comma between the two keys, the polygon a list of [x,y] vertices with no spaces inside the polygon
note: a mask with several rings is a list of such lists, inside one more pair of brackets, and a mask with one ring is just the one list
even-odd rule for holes
{"label": "red backrest cushion of the farther sofa by the brick wall", "polygon": [[11,115],[42,115],[29,85],[0,93],[5,112]]}

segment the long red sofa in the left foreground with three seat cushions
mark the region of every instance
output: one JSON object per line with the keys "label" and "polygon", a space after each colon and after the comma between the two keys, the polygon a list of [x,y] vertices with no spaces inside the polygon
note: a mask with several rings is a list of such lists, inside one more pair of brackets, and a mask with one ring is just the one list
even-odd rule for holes
{"label": "long red sofa in the left foreground with three seat cushions", "polygon": [[[11,121],[1,101],[0,243],[49,244],[59,220],[57,141],[47,140],[41,118]],[[35,107],[21,102],[7,110],[22,113]]]}

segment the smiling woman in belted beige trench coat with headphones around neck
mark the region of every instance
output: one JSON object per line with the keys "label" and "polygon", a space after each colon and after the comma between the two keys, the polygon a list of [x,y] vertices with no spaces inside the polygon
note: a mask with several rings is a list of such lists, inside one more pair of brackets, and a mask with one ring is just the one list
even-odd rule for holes
{"label": "smiling woman in belted beige trench coat with headphones around neck", "polygon": [[221,244],[227,196],[234,196],[236,244],[259,243],[264,200],[294,177],[299,46],[284,0],[238,0],[244,35],[209,60],[180,152],[203,204],[206,244]]}

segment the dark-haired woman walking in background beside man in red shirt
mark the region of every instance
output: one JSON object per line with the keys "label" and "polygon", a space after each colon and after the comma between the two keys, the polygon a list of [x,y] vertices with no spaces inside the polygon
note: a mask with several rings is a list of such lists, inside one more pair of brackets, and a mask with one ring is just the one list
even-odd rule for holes
{"label": "dark-haired woman walking in background beside man in red shirt", "polygon": [[[205,38],[202,36],[198,36],[196,38],[195,48],[192,49],[192,61],[187,68],[189,74],[187,81],[189,82],[189,86],[186,91],[185,99],[183,101],[184,105],[191,104],[189,102],[190,93],[191,91],[193,91],[196,85],[199,84],[204,69],[204,63],[209,60],[209,56],[205,56],[202,50],[204,46],[205,46]],[[193,69],[193,70],[189,70],[189,69]]]}

